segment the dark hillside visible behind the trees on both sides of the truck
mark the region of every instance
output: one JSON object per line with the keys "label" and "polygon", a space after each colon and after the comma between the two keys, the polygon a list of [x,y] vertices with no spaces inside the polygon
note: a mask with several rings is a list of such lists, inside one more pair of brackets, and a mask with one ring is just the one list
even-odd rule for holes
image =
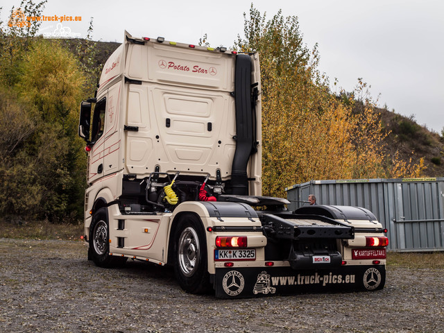
{"label": "dark hillside visible behind the trees on both sides of the truck", "polygon": [[[67,40],[71,51],[75,51],[78,40]],[[119,47],[117,42],[96,42],[97,67],[103,64],[111,53]],[[386,147],[393,155],[396,151],[402,160],[418,163],[424,157],[425,177],[444,177],[444,138],[416,123],[414,116],[404,117],[384,108],[377,108],[386,133]]]}

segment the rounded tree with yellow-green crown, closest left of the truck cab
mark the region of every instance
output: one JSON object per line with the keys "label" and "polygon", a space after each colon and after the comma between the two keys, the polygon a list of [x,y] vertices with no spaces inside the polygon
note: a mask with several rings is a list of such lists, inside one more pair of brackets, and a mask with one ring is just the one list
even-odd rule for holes
{"label": "rounded tree with yellow-green crown, closest left of the truck cab", "polygon": [[41,214],[61,216],[78,207],[85,188],[85,154],[77,137],[83,73],[78,60],[54,40],[38,40],[24,56],[16,90],[38,128],[26,145],[44,190]]}

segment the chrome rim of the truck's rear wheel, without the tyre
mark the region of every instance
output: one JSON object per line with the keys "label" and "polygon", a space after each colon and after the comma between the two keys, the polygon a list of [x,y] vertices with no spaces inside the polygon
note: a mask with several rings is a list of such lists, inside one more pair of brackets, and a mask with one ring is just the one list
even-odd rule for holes
{"label": "chrome rim of the truck's rear wheel, without the tyre", "polygon": [[194,274],[199,265],[199,239],[191,227],[185,228],[178,242],[178,259],[180,271],[189,277]]}

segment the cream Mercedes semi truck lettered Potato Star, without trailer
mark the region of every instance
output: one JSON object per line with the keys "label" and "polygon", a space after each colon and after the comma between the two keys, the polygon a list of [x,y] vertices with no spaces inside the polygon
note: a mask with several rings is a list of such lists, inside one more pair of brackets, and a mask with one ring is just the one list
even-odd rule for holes
{"label": "cream Mercedes semi truck lettered Potato Star, without trailer", "polygon": [[371,212],[261,196],[259,74],[257,53],[125,33],[80,106],[89,259],[172,265],[219,298],[384,287]]}

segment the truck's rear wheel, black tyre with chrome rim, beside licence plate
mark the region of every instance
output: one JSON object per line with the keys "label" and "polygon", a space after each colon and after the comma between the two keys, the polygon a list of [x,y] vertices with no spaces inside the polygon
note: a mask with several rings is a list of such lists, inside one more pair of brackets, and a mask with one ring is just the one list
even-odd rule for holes
{"label": "truck's rear wheel, black tyre with chrome rim, beside licence plate", "polygon": [[180,287],[187,293],[210,290],[207,269],[207,241],[203,225],[193,214],[183,215],[174,235],[174,272]]}

